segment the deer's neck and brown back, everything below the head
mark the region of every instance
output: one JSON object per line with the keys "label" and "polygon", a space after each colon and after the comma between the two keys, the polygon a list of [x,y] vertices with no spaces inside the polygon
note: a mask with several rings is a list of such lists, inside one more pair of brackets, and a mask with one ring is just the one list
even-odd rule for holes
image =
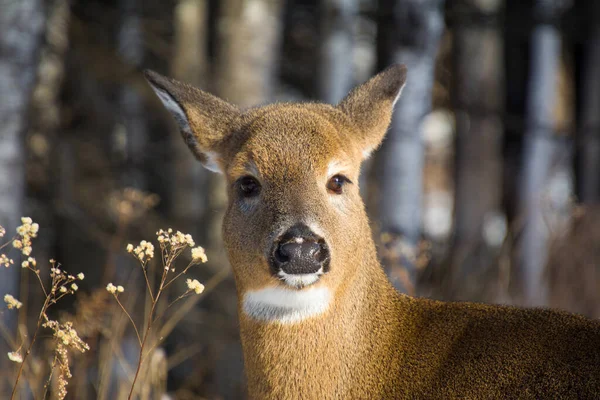
{"label": "deer's neck and brown back, everything below the head", "polygon": [[240,310],[252,398],[600,398],[597,323],[403,296],[369,261],[354,289],[300,330]]}

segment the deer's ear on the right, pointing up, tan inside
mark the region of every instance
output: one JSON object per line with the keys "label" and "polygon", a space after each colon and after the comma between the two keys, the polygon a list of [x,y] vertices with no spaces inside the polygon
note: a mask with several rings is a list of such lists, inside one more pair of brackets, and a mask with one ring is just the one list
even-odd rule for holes
{"label": "deer's ear on the right, pointing up, tan inside", "polygon": [[338,104],[358,128],[364,158],[379,146],[406,82],[406,66],[392,65],[356,87]]}

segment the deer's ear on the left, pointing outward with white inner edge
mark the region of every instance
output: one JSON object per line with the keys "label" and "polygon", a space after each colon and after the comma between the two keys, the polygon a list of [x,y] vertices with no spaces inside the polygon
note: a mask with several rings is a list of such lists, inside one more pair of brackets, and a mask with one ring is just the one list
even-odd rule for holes
{"label": "deer's ear on the left, pointing outward with white inner edge", "polygon": [[206,168],[222,172],[220,154],[231,133],[232,121],[240,114],[237,107],[154,71],[146,70],[144,75],[194,155]]}

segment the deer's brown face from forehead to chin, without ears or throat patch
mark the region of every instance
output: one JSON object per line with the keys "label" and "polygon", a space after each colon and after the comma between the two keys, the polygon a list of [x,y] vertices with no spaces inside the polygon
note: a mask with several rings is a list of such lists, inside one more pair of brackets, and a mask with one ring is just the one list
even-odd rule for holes
{"label": "deer's brown face from forehead to chin, without ears or throat patch", "polygon": [[239,144],[224,160],[223,233],[238,287],[335,290],[359,264],[362,154],[338,113],[276,105],[242,116]]}

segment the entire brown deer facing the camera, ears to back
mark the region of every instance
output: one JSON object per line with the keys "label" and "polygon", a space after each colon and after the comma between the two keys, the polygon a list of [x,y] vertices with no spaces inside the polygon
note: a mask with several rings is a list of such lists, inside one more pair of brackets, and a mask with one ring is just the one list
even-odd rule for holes
{"label": "entire brown deer facing the camera, ears to back", "polygon": [[600,398],[600,323],[397,292],[358,178],[407,69],[337,105],[241,110],[145,71],[183,139],[224,175],[223,240],[252,399]]}

